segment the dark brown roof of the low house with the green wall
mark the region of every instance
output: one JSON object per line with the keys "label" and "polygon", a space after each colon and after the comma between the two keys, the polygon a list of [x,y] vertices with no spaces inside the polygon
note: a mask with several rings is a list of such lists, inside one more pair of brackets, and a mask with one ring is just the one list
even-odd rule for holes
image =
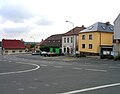
{"label": "dark brown roof of the low house with the green wall", "polygon": [[50,37],[45,39],[41,45],[49,46],[49,47],[61,47],[62,35],[63,34],[51,35]]}

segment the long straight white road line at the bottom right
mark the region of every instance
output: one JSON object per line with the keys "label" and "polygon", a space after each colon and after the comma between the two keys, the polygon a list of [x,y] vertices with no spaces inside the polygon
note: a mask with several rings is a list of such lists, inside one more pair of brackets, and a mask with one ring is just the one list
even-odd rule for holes
{"label": "long straight white road line at the bottom right", "polygon": [[80,89],[80,90],[74,90],[74,91],[69,91],[69,92],[65,92],[65,93],[56,93],[56,94],[75,94],[75,93],[81,93],[81,92],[103,89],[103,88],[108,88],[108,87],[115,87],[115,86],[120,86],[120,83],[101,85],[101,86],[85,88],[85,89]]}

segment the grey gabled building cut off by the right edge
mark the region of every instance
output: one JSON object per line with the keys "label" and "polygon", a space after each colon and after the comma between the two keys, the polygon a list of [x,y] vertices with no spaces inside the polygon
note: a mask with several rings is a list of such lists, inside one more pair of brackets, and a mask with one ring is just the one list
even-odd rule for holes
{"label": "grey gabled building cut off by the right edge", "polygon": [[120,14],[114,21],[114,51],[120,55]]}

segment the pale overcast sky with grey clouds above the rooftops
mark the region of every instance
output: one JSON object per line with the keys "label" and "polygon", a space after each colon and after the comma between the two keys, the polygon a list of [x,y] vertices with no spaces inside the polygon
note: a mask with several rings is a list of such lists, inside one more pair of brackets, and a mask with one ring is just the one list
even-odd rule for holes
{"label": "pale overcast sky with grey clouds above the rooftops", "polygon": [[72,29],[66,20],[74,26],[113,24],[120,13],[119,4],[119,0],[0,0],[0,40],[40,42]]}

